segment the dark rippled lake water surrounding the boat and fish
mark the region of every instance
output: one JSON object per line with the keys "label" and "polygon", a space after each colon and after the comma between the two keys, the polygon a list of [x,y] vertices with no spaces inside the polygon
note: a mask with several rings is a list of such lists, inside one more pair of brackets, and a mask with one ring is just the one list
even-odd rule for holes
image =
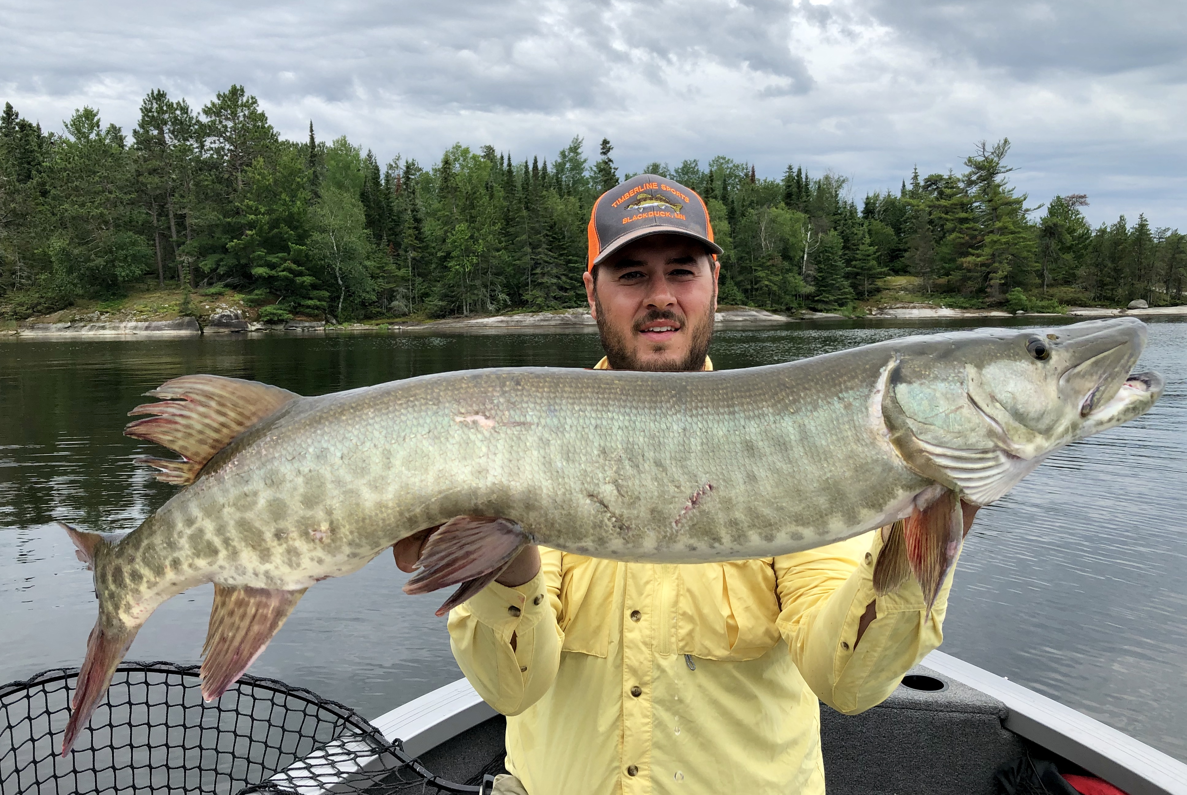
{"label": "dark rippled lake water surrounding the boat and fish", "polygon": [[[1008,320],[1010,325],[1018,322]],[[970,323],[721,331],[719,369]],[[139,395],[186,373],[306,395],[491,365],[590,367],[597,336],[208,336],[0,342],[0,681],[82,662],[90,574],[56,526],[128,532],[173,494],[121,435]],[[978,516],[944,650],[1187,761],[1187,323],[1150,326],[1140,369],[1168,387],[1145,416],[1052,457]],[[375,716],[461,673],[439,594],[408,597],[389,555],[311,589],[252,668]],[[129,659],[197,662],[212,589],[167,602]]]}

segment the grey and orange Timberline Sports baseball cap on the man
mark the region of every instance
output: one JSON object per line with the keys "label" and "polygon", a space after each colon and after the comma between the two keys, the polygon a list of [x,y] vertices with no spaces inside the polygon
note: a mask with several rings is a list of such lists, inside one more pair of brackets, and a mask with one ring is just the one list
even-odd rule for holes
{"label": "grey and orange Timberline Sports baseball cap on the man", "polygon": [[697,192],[658,174],[639,174],[602,193],[590,212],[589,271],[640,237],[662,233],[684,235],[704,243],[713,256],[709,209]]}

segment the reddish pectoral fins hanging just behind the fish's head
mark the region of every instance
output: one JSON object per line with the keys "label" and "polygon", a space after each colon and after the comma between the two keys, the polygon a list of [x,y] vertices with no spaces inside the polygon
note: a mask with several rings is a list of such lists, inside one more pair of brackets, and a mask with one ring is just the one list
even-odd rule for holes
{"label": "reddish pectoral fins hanging just behind the fish's head", "polygon": [[874,590],[884,596],[896,590],[913,574],[923,592],[928,621],[944,580],[964,540],[964,514],[960,497],[944,492],[926,508],[916,508],[906,520],[890,528],[890,535],[874,565]]}

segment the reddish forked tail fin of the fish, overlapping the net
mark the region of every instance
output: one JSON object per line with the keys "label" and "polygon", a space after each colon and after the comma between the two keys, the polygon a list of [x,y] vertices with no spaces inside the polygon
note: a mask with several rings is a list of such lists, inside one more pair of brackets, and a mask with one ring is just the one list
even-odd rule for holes
{"label": "reddish forked tail fin of the fish, overlapping the net", "polygon": [[[97,577],[113,545],[99,533],[78,530],[64,522],[58,522],[58,526],[66,532],[74,542],[78,560],[87,564],[87,568],[96,572]],[[78,732],[87,725],[99,700],[107,692],[112,674],[123,660],[123,655],[127,654],[139,629],[138,627],[122,627],[120,622],[104,617],[103,598],[97,587],[95,596],[100,599],[99,621],[95,622],[95,628],[90,630],[90,636],[87,638],[87,659],[78,672],[78,682],[70,701],[70,720],[62,742],[62,756],[70,752],[78,738]],[[107,619],[104,621],[104,618]]]}

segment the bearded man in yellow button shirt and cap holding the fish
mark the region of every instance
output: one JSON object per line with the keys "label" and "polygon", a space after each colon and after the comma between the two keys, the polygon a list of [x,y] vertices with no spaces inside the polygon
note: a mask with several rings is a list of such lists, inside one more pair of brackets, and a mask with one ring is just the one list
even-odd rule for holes
{"label": "bearded man in yellow button shirt and cap holding the fish", "polygon": [[[700,197],[635,177],[589,236],[596,369],[712,369],[722,249]],[[429,533],[396,546],[401,568]],[[876,598],[882,545],[688,566],[526,548],[449,619],[466,679],[508,716],[495,791],[823,794],[818,699],[868,710],[942,637],[951,575],[932,621],[914,580]]]}

